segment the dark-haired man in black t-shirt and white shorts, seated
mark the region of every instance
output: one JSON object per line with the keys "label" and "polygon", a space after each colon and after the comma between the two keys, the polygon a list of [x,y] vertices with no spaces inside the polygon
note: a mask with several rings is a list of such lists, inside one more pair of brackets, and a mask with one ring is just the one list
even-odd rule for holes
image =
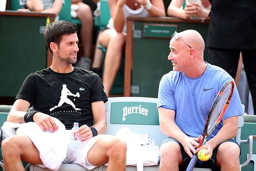
{"label": "dark-haired man in black t-shirt and white shorts, seated", "polygon": [[[58,120],[65,125],[65,132],[70,132],[73,123],[79,122],[80,148],[73,150],[68,146],[62,162],[77,163],[88,169],[109,162],[107,170],[125,170],[125,142],[102,135],[106,131],[104,102],[108,98],[100,78],[92,71],[73,67],[79,50],[77,27],[67,21],[51,23],[45,30],[45,40],[53,54],[52,65],[28,75],[7,121],[22,125],[30,122],[49,134],[60,131]],[[62,97],[63,85],[70,96]],[[67,102],[72,103],[60,104],[60,98],[69,98]],[[35,111],[27,112],[30,106]],[[25,170],[21,160],[45,166],[41,158],[44,151],[37,148],[30,136],[17,134],[6,138],[2,142],[2,151],[7,171]]]}

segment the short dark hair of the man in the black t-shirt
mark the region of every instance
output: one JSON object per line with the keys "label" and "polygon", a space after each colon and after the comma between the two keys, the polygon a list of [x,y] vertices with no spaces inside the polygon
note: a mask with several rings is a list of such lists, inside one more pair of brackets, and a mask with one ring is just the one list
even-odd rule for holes
{"label": "short dark hair of the man in the black t-shirt", "polygon": [[56,21],[50,23],[45,30],[44,36],[47,47],[50,49],[50,43],[54,42],[59,46],[59,43],[64,35],[77,33],[77,26],[68,21]]}

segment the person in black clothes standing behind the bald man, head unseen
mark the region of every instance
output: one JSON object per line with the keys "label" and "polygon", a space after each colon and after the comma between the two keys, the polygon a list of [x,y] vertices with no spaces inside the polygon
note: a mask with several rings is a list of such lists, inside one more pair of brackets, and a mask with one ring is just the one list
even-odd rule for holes
{"label": "person in black clothes standing behind the bald man, head unseen", "polygon": [[240,52],[256,112],[256,1],[212,0],[207,36],[209,63],[236,77]]}

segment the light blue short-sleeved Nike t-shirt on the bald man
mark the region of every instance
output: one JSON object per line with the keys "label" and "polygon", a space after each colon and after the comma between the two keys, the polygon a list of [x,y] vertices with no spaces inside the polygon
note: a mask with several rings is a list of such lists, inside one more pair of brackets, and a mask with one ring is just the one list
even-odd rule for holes
{"label": "light blue short-sleeved Nike t-shirt on the bald man", "polygon": [[[158,91],[157,107],[176,111],[175,123],[189,137],[202,135],[210,107],[218,91],[232,77],[222,68],[208,64],[198,78],[188,78],[183,72],[170,71],[163,75]],[[222,121],[243,114],[237,87]],[[212,132],[212,138],[223,126],[223,122]]]}

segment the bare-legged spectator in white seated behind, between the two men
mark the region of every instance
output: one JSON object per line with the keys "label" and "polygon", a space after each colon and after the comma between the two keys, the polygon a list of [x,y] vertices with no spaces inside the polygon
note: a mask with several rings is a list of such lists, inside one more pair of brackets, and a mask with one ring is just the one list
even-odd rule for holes
{"label": "bare-legged spectator in white seated behind, between the two men", "polygon": [[[107,48],[102,77],[107,96],[110,96],[121,63],[126,38],[126,17],[165,16],[163,0],[109,0],[109,6],[112,18],[107,26],[108,29],[98,37],[98,43]],[[101,60],[98,57],[95,56],[97,62]]]}

